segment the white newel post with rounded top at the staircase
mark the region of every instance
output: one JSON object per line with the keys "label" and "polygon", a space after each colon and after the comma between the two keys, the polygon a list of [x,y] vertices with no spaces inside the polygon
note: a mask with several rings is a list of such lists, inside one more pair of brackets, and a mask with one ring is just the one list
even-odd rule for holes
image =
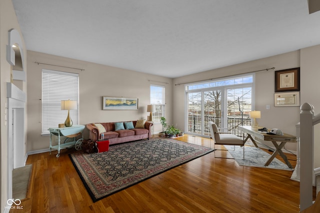
{"label": "white newel post with rounded top at the staircase", "polygon": [[313,106],[300,107],[300,211],[312,205]]}

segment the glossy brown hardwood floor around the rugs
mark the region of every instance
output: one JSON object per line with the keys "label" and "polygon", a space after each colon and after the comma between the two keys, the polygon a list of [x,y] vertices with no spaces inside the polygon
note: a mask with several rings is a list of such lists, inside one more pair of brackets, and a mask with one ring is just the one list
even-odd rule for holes
{"label": "glossy brown hardwood floor around the rugs", "polygon": [[[206,138],[185,135],[178,140],[210,146]],[[92,203],[67,155],[72,151],[63,150],[59,158],[55,152],[28,156],[26,164],[33,164],[34,176],[30,199],[21,203],[23,212],[299,212],[299,183],[290,180],[292,172],[214,158],[226,151],[209,153]],[[287,157],[294,167],[295,156]]]}

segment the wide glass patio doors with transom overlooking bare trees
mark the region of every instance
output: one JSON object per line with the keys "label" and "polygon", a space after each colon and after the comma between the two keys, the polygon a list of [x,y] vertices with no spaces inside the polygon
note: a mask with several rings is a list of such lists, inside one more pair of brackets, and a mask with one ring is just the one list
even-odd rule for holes
{"label": "wide glass patio doors with transom overlooking bare trees", "polygon": [[208,136],[212,121],[237,134],[237,126],[250,125],[252,87],[252,74],[186,85],[187,132]]}

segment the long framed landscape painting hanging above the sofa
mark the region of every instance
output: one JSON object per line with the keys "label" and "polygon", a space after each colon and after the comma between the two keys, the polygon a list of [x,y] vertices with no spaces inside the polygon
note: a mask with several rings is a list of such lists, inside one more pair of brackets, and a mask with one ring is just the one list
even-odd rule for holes
{"label": "long framed landscape painting hanging above the sofa", "polygon": [[138,99],[103,96],[102,109],[103,110],[137,110]]}

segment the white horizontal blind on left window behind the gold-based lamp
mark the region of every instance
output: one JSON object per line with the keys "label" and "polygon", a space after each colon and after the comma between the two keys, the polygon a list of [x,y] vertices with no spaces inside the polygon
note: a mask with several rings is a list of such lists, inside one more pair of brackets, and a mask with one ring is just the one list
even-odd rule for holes
{"label": "white horizontal blind on left window behind the gold-based lamp", "polygon": [[[79,104],[79,74],[42,69],[42,134],[48,128],[64,123],[67,110],[61,110],[61,100],[73,100]],[[77,110],[70,110],[73,124],[79,123]]]}

